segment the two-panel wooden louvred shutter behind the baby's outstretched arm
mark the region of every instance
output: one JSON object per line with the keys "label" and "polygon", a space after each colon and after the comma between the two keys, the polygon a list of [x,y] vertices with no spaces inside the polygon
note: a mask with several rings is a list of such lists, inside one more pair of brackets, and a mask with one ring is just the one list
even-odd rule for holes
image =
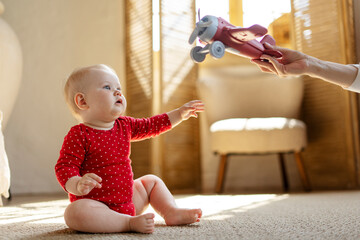
{"label": "two-panel wooden louvred shutter behind the baby's outstretched arm", "polygon": [[[127,114],[149,117],[196,99],[197,66],[188,38],[195,1],[160,1],[160,52],[152,49],[152,1],[126,1]],[[200,191],[199,121],[189,119],[155,139],[132,144],[135,177],[156,173],[169,189]]]}

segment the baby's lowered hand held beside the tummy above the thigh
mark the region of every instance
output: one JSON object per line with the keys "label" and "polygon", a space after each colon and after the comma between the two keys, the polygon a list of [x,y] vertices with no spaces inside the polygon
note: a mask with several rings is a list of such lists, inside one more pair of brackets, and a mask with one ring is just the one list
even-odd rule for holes
{"label": "baby's lowered hand held beside the tummy above the thigh", "polygon": [[101,188],[101,177],[95,173],[87,173],[84,176],[75,176],[70,178],[66,184],[66,190],[76,196],[88,194],[94,188]]}

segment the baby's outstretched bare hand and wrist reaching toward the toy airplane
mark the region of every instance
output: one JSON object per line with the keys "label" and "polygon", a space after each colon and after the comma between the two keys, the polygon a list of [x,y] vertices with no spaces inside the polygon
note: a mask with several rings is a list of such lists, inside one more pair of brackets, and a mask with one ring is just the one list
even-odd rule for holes
{"label": "baby's outstretched bare hand and wrist reaching toward the toy airplane", "polygon": [[201,100],[194,100],[185,103],[183,106],[168,112],[171,126],[175,127],[184,120],[190,117],[197,117],[197,112],[203,112],[205,109],[204,103]]}

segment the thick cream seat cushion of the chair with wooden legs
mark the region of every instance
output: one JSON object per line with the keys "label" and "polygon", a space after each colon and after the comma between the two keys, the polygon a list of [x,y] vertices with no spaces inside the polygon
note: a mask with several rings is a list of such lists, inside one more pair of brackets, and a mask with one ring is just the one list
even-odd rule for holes
{"label": "thick cream seat cushion of the chair with wooden legs", "polygon": [[211,148],[219,154],[295,152],[306,146],[306,125],[297,119],[231,118],[210,127]]}

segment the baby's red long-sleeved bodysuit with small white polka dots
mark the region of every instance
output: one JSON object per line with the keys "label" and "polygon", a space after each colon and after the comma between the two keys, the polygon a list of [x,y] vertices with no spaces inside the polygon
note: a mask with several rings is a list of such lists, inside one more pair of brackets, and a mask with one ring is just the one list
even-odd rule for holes
{"label": "baby's red long-sleeved bodysuit with small white polka dots", "polygon": [[120,117],[110,130],[76,125],[64,138],[55,165],[56,177],[65,189],[70,178],[95,173],[102,178],[102,188],[94,188],[84,196],[69,193],[70,201],[94,199],[114,211],[134,216],[130,142],[154,137],[169,129],[171,123],[166,113],[144,119]]}

